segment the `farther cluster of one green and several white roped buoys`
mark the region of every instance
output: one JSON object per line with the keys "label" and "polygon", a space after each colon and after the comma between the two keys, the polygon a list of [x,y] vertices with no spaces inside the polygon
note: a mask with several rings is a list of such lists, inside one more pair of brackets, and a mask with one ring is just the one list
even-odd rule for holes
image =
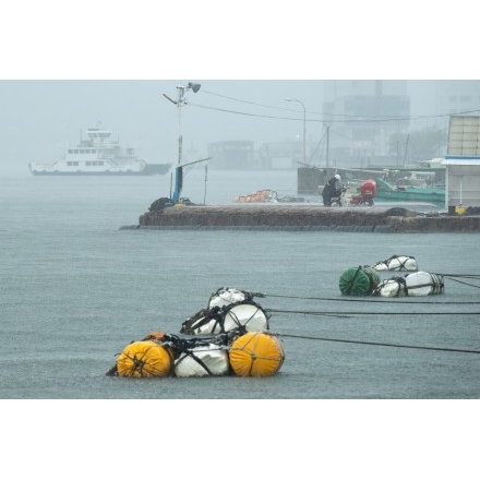
{"label": "farther cluster of one green and several white roped buoys", "polygon": [[[404,277],[381,280],[379,272],[410,272]],[[346,296],[423,297],[444,292],[443,275],[419,272],[417,260],[408,255],[393,255],[371,266],[345,271],[339,288]]]}

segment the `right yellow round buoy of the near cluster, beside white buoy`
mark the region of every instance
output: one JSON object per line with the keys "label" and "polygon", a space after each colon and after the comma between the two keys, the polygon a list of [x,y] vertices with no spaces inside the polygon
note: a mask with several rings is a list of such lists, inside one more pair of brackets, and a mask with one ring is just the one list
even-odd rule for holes
{"label": "right yellow round buoy of the near cluster, beside white buoy", "polygon": [[230,347],[230,365],[239,376],[269,376],[280,370],[285,353],[277,337],[249,332]]}

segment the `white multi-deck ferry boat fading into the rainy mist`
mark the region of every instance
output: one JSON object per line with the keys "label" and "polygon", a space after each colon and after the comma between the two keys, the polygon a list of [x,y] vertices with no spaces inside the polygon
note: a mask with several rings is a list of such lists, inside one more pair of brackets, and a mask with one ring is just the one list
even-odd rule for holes
{"label": "white multi-deck ferry boat fading into the rainy mist", "polygon": [[134,148],[122,148],[111,139],[111,131],[101,128],[86,130],[77,146],[68,147],[62,159],[31,161],[28,168],[39,176],[149,176],[165,175],[171,164],[147,164],[140,159]]}

